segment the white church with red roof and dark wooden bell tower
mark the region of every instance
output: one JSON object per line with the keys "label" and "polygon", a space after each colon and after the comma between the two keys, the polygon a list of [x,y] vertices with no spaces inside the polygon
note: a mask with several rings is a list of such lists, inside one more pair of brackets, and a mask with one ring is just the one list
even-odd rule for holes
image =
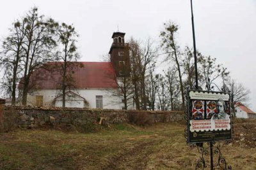
{"label": "white church with red roof and dark wooden bell tower", "polygon": [[[130,67],[129,52],[125,50],[125,33],[114,32],[109,50],[111,62],[76,62],[72,78],[74,87],[67,90],[65,106],[76,108],[122,109],[124,99],[118,95],[117,80],[124,76],[124,67]],[[46,66],[56,66],[60,62],[49,62]],[[31,106],[62,106],[61,74],[38,68],[31,76],[31,93],[27,104]],[[32,85],[33,84],[33,85]],[[35,87],[35,88],[33,88]],[[22,89],[22,83],[19,85]],[[129,106],[128,109],[133,109]]]}

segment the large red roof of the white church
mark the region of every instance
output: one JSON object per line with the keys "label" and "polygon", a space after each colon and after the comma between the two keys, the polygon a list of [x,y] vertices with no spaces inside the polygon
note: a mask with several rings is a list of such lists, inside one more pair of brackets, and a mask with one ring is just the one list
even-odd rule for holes
{"label": "large red roof of the white church", "polygon": [[[72,87],[76,89],[117,89],[115,71],[111,62],[74,62]],[[31,75],[31,89],[61,89],[61,73],[54,71],[63,62],[48,62]],[[52,71],[53,70],[53,71]],[[20,81],[19,89],[22,89]]]}

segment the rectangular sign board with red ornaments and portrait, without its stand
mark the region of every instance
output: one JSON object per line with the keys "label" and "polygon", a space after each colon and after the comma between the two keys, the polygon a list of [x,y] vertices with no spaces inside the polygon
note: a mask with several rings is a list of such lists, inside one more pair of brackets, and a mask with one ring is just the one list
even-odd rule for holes
{"label": "rectangular sign board with red ornaments and portrait, without its stand", "polygon": [[188,143],[232,139],[230,95],[224,92],[188,92]]}

